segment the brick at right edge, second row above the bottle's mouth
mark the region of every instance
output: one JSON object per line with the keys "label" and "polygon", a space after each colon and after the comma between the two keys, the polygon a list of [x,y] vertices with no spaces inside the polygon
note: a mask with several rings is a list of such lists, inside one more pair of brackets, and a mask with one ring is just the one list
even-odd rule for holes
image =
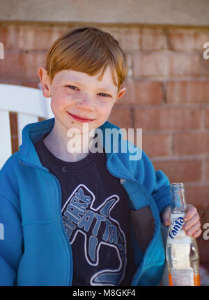
{"label": "brick at right edge, second row above the bottle's mouth", "polygon": [[173,137],[173,153],[183,155],[208,155],[209,133],[176,133]]}

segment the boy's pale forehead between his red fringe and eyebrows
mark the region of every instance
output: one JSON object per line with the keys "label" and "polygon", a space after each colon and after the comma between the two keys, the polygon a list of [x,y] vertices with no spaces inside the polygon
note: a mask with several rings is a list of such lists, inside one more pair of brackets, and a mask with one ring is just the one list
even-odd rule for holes
{"label": "boy's pale forehead between his red fringe and eyebrows", "polygon": [[84,72],[74,70],[63,70],[54,76],[56,83],[63,81],[73,81],[74,83],[83,83],[84,85],[100,85],[101,88],[117,89],[114,85],[111,67],[107,67],[102,76],[102,70],[96,75],[88,75]]}

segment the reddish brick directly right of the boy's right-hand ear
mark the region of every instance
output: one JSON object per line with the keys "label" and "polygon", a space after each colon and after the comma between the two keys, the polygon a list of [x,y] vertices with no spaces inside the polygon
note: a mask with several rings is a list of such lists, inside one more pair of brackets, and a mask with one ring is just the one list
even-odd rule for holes
{"label": "reddish brick directly right of the boy's right-hand ear", "polygon": [[125,95],[116,102],[122,104],[157,105],[163,102],[162,83],[155,81],[125,81]]}

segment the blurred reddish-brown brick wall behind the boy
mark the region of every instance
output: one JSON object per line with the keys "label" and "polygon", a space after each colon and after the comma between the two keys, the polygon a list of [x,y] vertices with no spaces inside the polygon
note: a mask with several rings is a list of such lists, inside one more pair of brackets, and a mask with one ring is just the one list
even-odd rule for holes
{"label": "blurred reddish-brown brick wall behind the boy", "polygon": [[[209,28],[175,26],[99,26],[121,42],[129,71],[125,97],[109,121],[143,128],[143,149],[171,182],[184,182],[187,203],[209,223],[209,60],[203,44]],[[1,24],[0,82],[38,86],[38,67],[50,44],[70,26]],[[13,151],[17,151],[15,115]],[[198,239],[201,263],[209,263],[209,240]]]}

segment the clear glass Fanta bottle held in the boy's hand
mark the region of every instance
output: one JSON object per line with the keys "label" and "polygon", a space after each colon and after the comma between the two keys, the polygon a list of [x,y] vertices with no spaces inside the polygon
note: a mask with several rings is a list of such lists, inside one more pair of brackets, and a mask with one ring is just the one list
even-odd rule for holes
{"label": "clear glass Fanta bottle held in the boy's hand", "polygon": [[183,230],[186,201],[183,183],[171,184],[171,223],[167,238],[169,285],[199,286],[199,253],[196,240]]}

